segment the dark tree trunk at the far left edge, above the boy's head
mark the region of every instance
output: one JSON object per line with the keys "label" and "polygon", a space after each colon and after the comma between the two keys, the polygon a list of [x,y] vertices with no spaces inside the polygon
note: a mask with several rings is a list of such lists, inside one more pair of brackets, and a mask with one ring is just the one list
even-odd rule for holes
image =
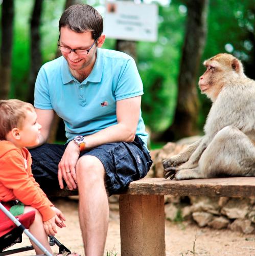
{"label": "dark tree trunk at the far left edge, above the boy's head", "polygon": [[11,59],[13,38],[14,1],[3,0],[2,4],[2,46],[0,59],[0,99],[8,99],[11,85]]}

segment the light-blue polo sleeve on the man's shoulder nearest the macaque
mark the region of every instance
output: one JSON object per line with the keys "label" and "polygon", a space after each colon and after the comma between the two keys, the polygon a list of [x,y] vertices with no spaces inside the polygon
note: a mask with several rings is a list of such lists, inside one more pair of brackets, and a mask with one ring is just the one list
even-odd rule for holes
{"label": "light-blue polo sleeve on the man's shoulder nearest the macaque", "polygon": [[116,100],[127,99],[143,94],[143,83],[134,59],[127,60],[123,67],[115,90]]}

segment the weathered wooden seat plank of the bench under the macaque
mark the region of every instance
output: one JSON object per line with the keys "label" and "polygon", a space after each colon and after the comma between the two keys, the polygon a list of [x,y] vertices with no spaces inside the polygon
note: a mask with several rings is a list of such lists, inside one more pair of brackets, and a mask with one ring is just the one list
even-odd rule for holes
{"label": "weathered wooden seat plank of the bench under the macaque", "polygon": [[144,178],[133,181],[123,194],[209,197],[255,196],[255,177],[231,177],[195,180]]}

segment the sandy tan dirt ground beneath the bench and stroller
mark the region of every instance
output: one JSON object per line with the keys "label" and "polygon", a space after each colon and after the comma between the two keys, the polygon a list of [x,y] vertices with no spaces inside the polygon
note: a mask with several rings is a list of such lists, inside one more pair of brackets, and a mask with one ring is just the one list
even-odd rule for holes
{"label": "sandy tan dirt ground beneath the bench and stroller", "polygon": [[[66,218],[66,228],[58,229],[56,238],[72,251],[84,255],[81,231],[78,220],[78,201],[57,200],[56,207],[62,210]],[[255,256],[255,234],[245,235],[230,230],[213,230],[210,228],[198,228],[186,222],[179,224],[166,221],[166,255],[193,255],[195,242],[195,255],[244,255]],[[24,236],[23,245],[29,245],[29,240]],[[19,247],[15,245],[12,248]],[[53,247],[57,251],[57,246]],[[104,256],[120,256],[120,220],[119,211],[110,211],[109,229]],[[116,254],[117,253],[117,254]],[[22,252],[18,255],[32,255],[33,251]],[[150,255],[148,255],[150,256]],[[158,255],[160,256],[160,255]]]}

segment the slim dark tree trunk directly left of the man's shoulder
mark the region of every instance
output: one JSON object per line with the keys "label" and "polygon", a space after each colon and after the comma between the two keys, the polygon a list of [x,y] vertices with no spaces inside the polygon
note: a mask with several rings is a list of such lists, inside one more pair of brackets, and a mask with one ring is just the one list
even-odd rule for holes
{"label": "slim dark tree trunk directly left of the man's shoulder", "polygon": [[35,80],[41,67],[41,37],[39,32],[40,18],[42,12],[42,0],[35,0],[33,14],[30,20],[30,74],[29,91],[27,101],[34,103]]}

